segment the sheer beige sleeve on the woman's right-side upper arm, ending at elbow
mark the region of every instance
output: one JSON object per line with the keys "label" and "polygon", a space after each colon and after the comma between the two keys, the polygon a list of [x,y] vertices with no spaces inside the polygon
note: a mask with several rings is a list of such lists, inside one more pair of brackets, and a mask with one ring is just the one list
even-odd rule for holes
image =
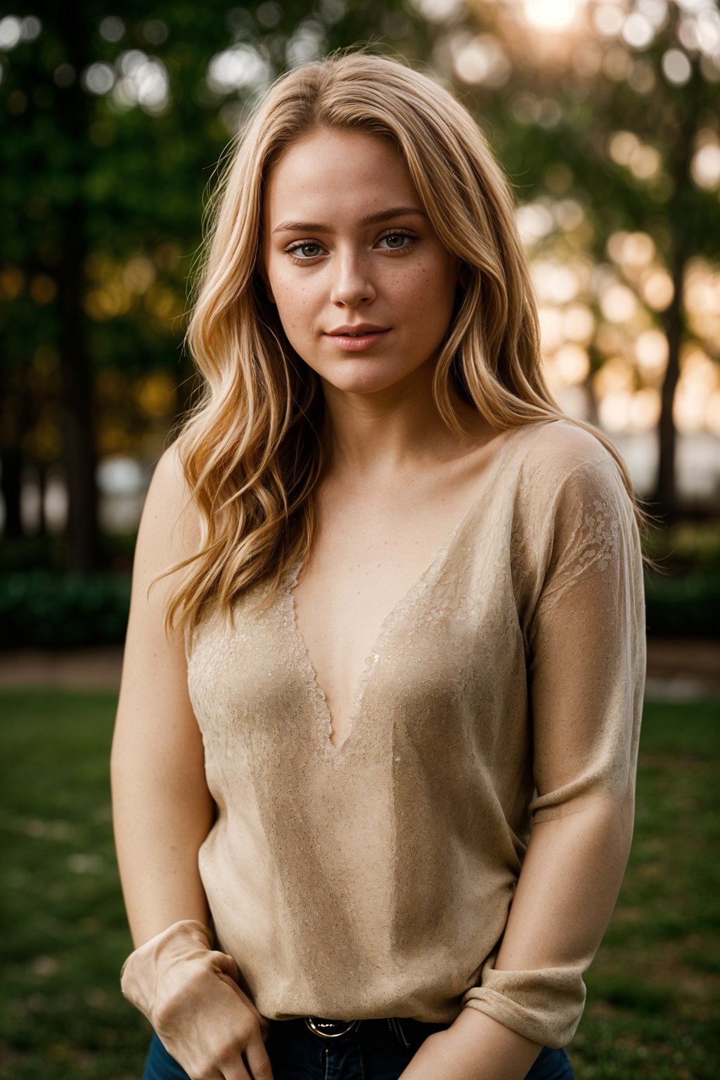
{"label": "sheer beige sleeve on the woman's right-side upper arm, ending at elbow", "polygon": [[529,626],[536,795],[532,821],[635,795],[646,678],[642,561],[612,459],[576,467],[554,508],[552,555]]}

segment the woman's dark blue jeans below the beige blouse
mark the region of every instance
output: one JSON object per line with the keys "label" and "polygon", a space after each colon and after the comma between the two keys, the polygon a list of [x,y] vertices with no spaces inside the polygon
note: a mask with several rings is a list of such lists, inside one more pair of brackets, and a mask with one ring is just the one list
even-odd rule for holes
{"label": "woman's dark blue jeans below the beige blouse", "polygon": [[[402,1021],[406,1047],[386,1021],[364,1021],[335,1039],[322,1039],[303,1020],[271,1021],[266,1049],[273,1080],[397,1080],[423,1039],[448,1024]],[[153,1036],[142,1080],[188,1080],[188,1074]],[[574,1080],[563,1050],[540,1052],[526,1080]]]}

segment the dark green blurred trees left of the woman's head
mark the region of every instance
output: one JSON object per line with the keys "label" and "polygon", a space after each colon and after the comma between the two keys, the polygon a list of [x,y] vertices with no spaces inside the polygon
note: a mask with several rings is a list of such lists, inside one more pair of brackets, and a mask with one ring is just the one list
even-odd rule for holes
{"label": "dark green blurred trees left of the woman's head", "polygon": [[[187,276],[204,191],[244,107],[331,49],[382,38],[412,57],[427,42],[399,0],[116,11],[37,0],[0,21],[5,536],[19,530],[23,465],[59,454],[67,565],[83,571],[99,557],[98,453],[137,450],[152,417],[169,422],[192,393],[178,359]],[[57,407],[38,407],[39,383]]]}

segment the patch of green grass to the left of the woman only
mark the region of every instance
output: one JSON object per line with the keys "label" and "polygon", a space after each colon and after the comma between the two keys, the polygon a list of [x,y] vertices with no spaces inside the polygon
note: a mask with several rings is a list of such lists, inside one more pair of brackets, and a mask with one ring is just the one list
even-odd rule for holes
{"label": "patch of green grass to the left of the woman only", "polygon": [[130,934],[110,821],[117,694],[4,691],[0,1075],[137,1080],[148,1031],[124,1000]]}

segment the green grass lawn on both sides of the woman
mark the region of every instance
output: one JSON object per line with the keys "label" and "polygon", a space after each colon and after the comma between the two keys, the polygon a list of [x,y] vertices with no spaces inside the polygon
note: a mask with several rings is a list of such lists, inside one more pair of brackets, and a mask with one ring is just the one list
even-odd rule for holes
{"label": "green grass lawn on both sides of the woman", "polygon": [[[108,754],[117,697],[0,693],[0,1075],[138,1080]],[[647,703],[635,843],[570,1048],[578,1080],[715,1080],[720,1062],[720,700]]]}

